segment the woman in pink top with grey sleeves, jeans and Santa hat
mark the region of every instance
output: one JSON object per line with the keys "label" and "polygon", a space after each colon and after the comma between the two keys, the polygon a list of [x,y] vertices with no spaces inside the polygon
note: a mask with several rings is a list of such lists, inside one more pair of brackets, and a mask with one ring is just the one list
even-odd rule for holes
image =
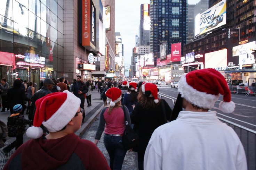
{"label": "woman in pink top with grey sleeves, jeans and Santa hat", "polygon": [[121,90],[115,87],[106,91],[107,107],[104,107],[101,110],[99,125],[94,140],[95,145],[97,145],[104,130],[104,145],[107,153],[109,153],[110,168],[112,170],[122,169],[123,159],[127,152],[122,143],[122,135],[126,126],[123,107],[126,112],[127,121],[129,125],[131,125],[128,109],[127,107],[122,106],[120,101],[121,94]]}

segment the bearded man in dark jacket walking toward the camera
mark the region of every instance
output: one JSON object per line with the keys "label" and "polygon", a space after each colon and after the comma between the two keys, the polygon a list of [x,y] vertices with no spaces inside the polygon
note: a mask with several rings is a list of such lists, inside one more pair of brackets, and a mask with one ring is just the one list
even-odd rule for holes
{"label": "bearded man in dark jacket walking toward the camera", "polygon": [[[88,88],[85,83],[81,81],[81,76],[77,76],[77,81],[73,84],[72,87],[73,94],[80,99],[80,108],[85,110],[85,94],[88,92]],[[85,122],[85,111],[83,111],[83,120]]]}

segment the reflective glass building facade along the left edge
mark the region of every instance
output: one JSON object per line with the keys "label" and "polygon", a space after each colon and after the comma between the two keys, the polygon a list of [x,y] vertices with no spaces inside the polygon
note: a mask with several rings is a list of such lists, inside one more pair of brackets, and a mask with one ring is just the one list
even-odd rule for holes
{"label": "reflective glass building facade along the left edge", "polygon": [[0,77],[35,83],[63,71],[63,0],[1,0]]}

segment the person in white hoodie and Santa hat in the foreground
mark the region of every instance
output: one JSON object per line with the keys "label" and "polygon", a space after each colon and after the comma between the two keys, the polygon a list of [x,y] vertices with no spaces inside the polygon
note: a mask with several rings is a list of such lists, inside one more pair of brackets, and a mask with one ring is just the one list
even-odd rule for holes
{"label": "person in white hoodie and Santa hat in the foreground", "polygon": [[215,69],[182,75],[178,92],[182,107],[176,120],[155,129],[144,156],[145,170],[246,170],[242,143],[235,131],[209,111],[223,95],[219,108],[234,111],[226,80]]}

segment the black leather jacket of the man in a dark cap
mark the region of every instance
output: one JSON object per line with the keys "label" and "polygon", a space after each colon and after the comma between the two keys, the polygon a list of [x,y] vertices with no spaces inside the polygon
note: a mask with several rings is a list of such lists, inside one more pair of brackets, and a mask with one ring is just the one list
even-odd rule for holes
{"label": "black leather jacket of the man in a dark cap", "polygon": [[32,111],[31,111],[31,114],[29,114],[29,119],[31,119],[31,120],[34,119],[35,110],[37,109],[35,107],[35,101],[37,101],[41,97],[46,96],[47,94],[50,94],[50,93],[52,93],[52,92],[49,91],[49,89],[44,86],[42,86],[42,88],[39,91],[35,92],[33,99],[32,99],[32,104],[31,104]]}

